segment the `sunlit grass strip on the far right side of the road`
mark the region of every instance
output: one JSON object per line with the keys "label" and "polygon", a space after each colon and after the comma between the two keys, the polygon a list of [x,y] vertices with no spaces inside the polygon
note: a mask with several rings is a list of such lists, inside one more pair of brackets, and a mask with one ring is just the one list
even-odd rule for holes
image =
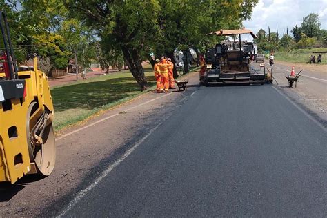
{"label": "sunlit grass strip on the far right side of the road", "polygon": [[[327,52],[327,48],[313,48],[313,49],[297,49],[290,52],[275,52],[275,59],[277,61],[286,61],[290,63],[307,63],[311,55],[315,55],[316,61],[318,54],[313,52]],[[327,54],[321,54],[321,63],[327,64]]]}

